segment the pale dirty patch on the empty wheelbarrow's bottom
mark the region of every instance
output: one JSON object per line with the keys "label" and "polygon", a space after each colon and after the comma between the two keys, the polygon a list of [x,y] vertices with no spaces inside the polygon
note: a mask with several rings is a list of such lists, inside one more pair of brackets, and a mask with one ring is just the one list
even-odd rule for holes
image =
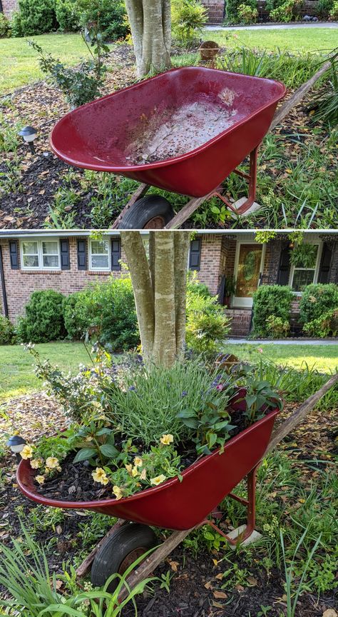
{"label": "pale dirty patch on the empty wheelbarrow's bottom", "polygon": [[186,154],[202,146],[240,119],[232,109],[233,92],[224,89],[215,99],[203,95],[198,101],[144,114],[128,136],[128,164],[150,164]]}

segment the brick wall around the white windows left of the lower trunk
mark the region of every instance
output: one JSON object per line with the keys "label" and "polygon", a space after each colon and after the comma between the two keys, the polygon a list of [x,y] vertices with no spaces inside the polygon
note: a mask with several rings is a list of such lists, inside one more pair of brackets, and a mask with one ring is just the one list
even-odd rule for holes
{"label": "brick wall around the white windows left of the lower trunk", "polygon": [[[12,270],[9,259],[9,241],[0,239],[2,247],[2,256],[4,259],[4,278],[7,291],[7,302],[9,306],[9,318],[11,321],[16,321],[17,318],[24,314],[24,307],[29,301],[33,291],[40,289],[54,289],[61,291],[61,294],[71,294],[73,291],[81,291],[88,283],[95,281],[106,281],[108,276],[121,276],[121,271],[113,270],[111,272],[91,272],[86,270],[78,270],[77,267],[77,244],[76,238],[69,239],[69,254],[71,261],[70,270],[43,270],[43,271],[27,271],[27,270]],[[19,255],[19,251],[18,251]],[[126,256],[121,256],[122,261],[126,261]],[[0,290],[0,308],[4,314],[3,298]]]}

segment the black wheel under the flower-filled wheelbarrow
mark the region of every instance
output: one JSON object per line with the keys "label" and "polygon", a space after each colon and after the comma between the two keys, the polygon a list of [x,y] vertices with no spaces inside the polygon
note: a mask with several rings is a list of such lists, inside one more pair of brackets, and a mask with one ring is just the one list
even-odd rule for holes
{"label": "black wheel under the flower-filled wheelbarrow", "polygon": [[[115,573],[123,574],[131,564],[155,546],[157,538],[153,529],[140,523],[123,525],[103,543],[91,567],[91,582],[94,586],[103,586]],[[119,582],[116,577],[108,586],[113,591]]]}

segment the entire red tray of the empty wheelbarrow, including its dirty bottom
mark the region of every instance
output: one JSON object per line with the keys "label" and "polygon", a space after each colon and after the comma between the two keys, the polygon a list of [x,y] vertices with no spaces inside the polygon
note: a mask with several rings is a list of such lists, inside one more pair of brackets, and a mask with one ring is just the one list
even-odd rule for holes
{"label": "entire red tray of the empty wheelbarrow, including its dirty bottom", "polygon": [[63,116],[51,147],[74,166],[203,197],[260,144],[283,96],[272,79],[172,69]]}

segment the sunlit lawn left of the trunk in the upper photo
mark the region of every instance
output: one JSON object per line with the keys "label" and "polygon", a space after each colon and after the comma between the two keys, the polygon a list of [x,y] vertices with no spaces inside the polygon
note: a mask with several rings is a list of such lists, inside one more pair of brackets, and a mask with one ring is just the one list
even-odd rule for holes
{"label": "sunlit lawn left of the trunk in the upper photo", "polygon": [[[77,64],[88,56],[79,34],[40,34],[29,38],[66,64]],[[0,96],[39,79],[43,79],[43,74],[36,51],[27,39],[0,39]]]}

